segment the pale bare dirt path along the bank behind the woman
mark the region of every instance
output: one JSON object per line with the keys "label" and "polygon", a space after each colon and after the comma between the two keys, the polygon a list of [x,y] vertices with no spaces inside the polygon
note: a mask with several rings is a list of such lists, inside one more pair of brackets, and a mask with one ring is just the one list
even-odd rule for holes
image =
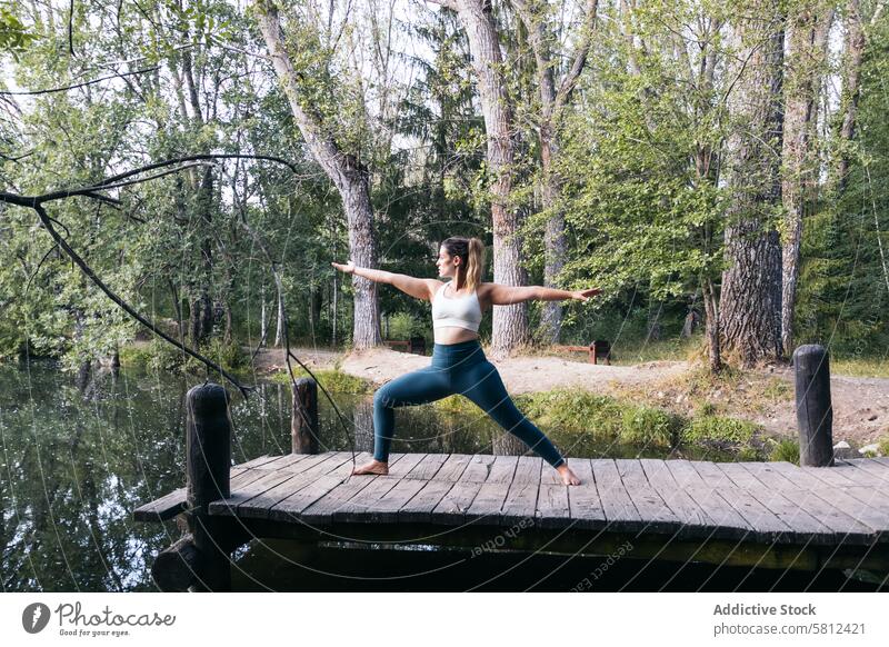
{"label": "pale bare dirt path along the bank behind the woman", "polygon": [[[309,368],[339,368],[382,385],[430,364],[430,357],[387,348],[349,355],[299,348],[294,354]],[[488,359],[497,366],[510,394],[579,388],[669,409],[683,416],[709,412],[753,421],[776,437],[796,438],[793,372],[786,366],[767,366],[713,379],[688,361],[649,361],[632,366],[591,365],[577,358],[551,356]],[[284,369],[280,350],[263,350],[256,358],[260,372]],[[889,435],[889,378],[831,376],[833,442],[853,448]]]}

